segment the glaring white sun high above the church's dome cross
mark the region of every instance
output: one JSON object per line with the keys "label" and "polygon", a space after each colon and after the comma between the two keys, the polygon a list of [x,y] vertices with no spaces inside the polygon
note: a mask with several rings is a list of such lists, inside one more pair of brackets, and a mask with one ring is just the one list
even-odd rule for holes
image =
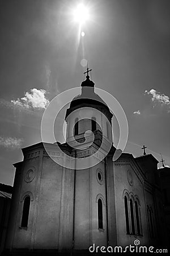
{"label": "glaring white sun high above the church's dome cross", "polygon": [[89,19],[88,8],[84,6],[83,3],[80,3],[74,10],[73,15],[74,15],[75,22],[83,24]]}

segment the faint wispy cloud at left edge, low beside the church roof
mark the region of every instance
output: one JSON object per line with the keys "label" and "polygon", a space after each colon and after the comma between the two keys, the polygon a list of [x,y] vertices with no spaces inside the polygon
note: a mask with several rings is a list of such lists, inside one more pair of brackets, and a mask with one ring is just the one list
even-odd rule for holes
{"label": "faint wispy cloud at left edge, low beside the church roof", "polygon": [[23,139],[12,138],[12,137],[1,137],[0,136],[0,146],[9,149],[20,148],[23,143]]}

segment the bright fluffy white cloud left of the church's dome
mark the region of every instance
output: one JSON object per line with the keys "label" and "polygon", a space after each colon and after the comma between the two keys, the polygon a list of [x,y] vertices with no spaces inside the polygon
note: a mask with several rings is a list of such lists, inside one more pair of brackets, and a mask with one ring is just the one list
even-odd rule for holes
{"label": "bright fluffy white cloud left of the church's dome", "polygon": [[11,100],[11,103],[15,106],[19,106],[25,109],[37,108],[45,109],[49,104],[49,100],[45,97],[46,90],[38,90],[36,88],[31,89],[31,92],[26,92],[25,97],[18,98],[18,100]]}

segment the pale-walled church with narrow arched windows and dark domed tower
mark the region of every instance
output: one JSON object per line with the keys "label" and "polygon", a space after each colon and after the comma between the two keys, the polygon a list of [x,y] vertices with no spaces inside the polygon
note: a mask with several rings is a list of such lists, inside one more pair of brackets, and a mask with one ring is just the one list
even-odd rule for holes
{"label": "pale-walled church with narrow arched windows and dark domed tower", "polygon": [[[79,121],[80,112],[89,107],[97,112],[91,111],[90,118]],[[93,155],[102,139],[104,145],[113,140],[112,113],[95,93],[88,75],[82,82],[82,94],[67,109],[66,122],[69,144],[34,144],[23,148],[23,161],[14,164],[5,253],[50,255],[84,251],[86,255],[90,246],[124,248],[134,245],[135,240],[143,246],[165,245],[162,191],[154,156],[134,158],[122,153],[113,162],[116,148],[112,144],[107,156],[97,164],[76,168],[76,161]],[[84,133],[91,130],[94,142],[81,150],[71,147],[72,130],[78,143],[84,142]],[[55,158],[65,161],[61,151],[74,156],[75,168],[54,162]]]}

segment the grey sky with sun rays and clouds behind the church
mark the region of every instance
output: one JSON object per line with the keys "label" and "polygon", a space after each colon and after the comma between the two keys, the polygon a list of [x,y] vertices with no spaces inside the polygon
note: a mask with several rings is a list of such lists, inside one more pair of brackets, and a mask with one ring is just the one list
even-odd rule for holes
{"label": "grey sky with sun rays and clouds behind the church", "polygon": [[140,156],[145,144],[170,166],[169,0],[86,0],[81,28],[73,19],[80,2],[0,0],[0,183],[13,184],[21,148],[41,141],[49,102],[84,80],[82,59],[125,111],[125,151]]}

